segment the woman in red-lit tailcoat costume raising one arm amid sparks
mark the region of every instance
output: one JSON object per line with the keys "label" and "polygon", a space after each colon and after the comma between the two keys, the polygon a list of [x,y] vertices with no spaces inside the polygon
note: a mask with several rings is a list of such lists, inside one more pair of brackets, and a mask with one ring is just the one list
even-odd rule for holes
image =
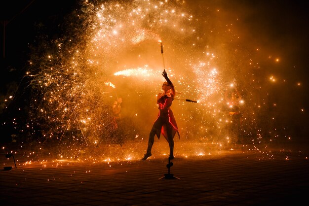
{"label": "woman in red-lit tailcoat costume raising one arm amid sparks", "polygon": [[166,81],[162,84],[163,92],[159,93],[157,96],[156,103],[159,106],[159,114],[154,122],[152,130],[150,131],[147,152],[142,160],[147,160],[148,157],[152,156],[151,149],[154,144],[154,136],[156,135],[159,139],[161,133],[169,144],[169,157],[170,159],[174,159],[174,137],[176,133],[180,138],[176,120],[170,108],[176,94],[175,87],[171,80],[167,77],[165,69],[163,70],[162,75]]}

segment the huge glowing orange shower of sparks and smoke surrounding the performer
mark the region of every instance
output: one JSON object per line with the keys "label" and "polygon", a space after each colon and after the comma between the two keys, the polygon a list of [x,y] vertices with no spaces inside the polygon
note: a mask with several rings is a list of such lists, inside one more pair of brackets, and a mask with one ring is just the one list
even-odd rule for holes
{"label": "huge glowing orange shower of sparks and smoke surrounding the performer", "polygon": [[165,67],[177,92],[172,109],[181,140],[214,147],[234,143],[226,97],[234,88],[241,96],[240,143],[256,147],[275,140],[284,130],[271,123],[269,112],[275,77],[259,67],[265,60],[244,43],[238,24],[237,15],[212,1],[80,1],[61,25],[63,36],[41,41],[31,55],[25,130],[72,158],[85,147],[113,143],[111,106],[121,97],[127,122],[121,135],[139,145],[157,115]]}

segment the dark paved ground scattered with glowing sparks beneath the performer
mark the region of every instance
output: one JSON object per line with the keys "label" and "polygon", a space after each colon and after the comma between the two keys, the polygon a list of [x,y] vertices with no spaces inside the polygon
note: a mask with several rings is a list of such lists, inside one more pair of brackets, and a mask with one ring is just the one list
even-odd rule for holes
{"label": "dark paved ground scattered with glowing sparks beneath the performer", "polygon": [[[18,157],[15,157],[18,159]],[[0,163],[11,166],[11,158]],[[217,156],[146,161],[45,159],[0,171],[1,205],[309,205],[308,150],[233,150]]]}

